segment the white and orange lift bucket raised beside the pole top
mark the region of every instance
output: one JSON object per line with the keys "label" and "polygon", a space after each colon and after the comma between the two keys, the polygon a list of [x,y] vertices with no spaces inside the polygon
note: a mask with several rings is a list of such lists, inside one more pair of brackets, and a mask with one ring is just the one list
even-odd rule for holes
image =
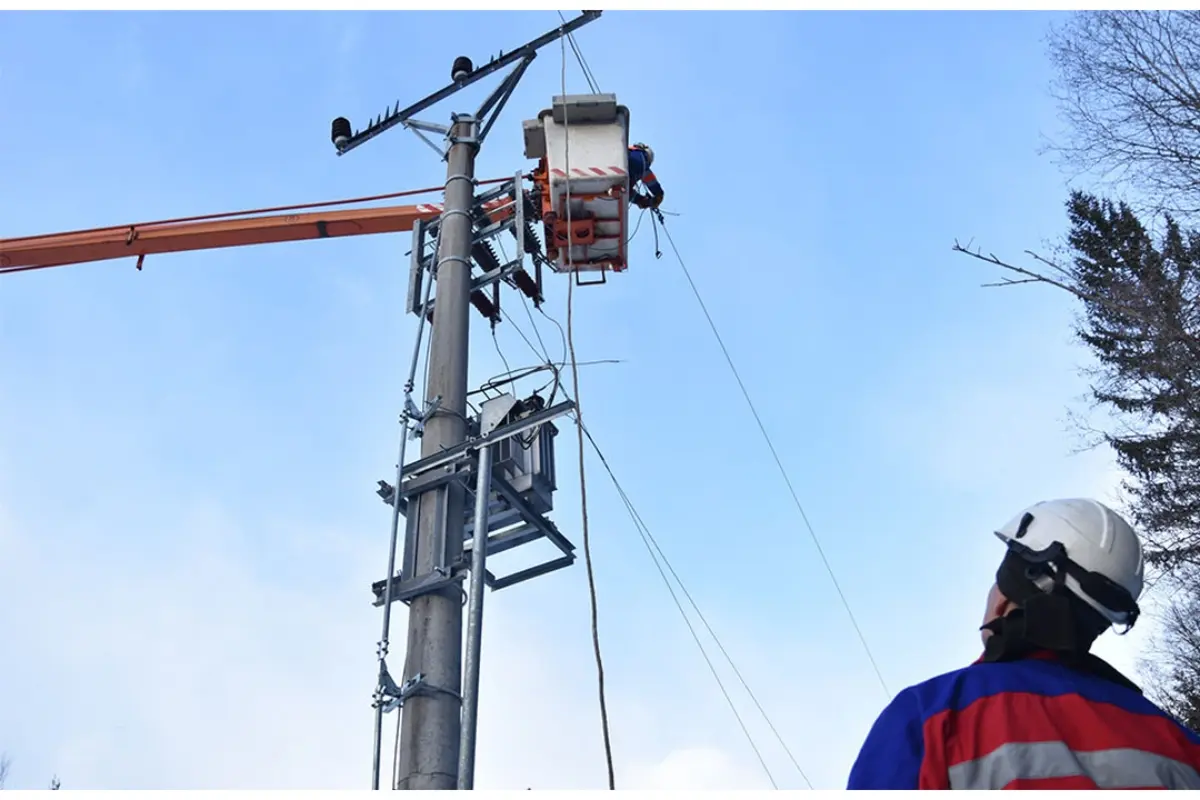
{"label": "white and orange lift bucket raised beside the pole top", "polygon": [[553,269],[624,271],[629,109],[617,104],[616,95],[556,96],[552,108],[526,120],[524,146],[527,158],[540,160],[534,181]]}

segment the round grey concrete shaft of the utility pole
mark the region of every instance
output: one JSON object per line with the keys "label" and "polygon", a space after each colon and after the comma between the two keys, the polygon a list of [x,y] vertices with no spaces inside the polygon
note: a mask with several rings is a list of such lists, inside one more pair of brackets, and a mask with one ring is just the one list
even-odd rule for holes
{"label": "round grey concrete shaft of the utility pole", "polygon": [[[437,410],[425,425],[421,457],[467,438],[470,330],[470,209],[475,200],[479,122],[457,115],[450,128],[445,207],[437,259],[437,303],[430,341],[426,399]],[[419,504],[418,573],[462,555],[464,489],[451,481],[413,498]],[[414,597],[408,612],[404,673],[424,675],[424,691],[404,702],[397,742],[397,789],[454,789],[458,772],[462,684],[462,590],[452,585]]]}

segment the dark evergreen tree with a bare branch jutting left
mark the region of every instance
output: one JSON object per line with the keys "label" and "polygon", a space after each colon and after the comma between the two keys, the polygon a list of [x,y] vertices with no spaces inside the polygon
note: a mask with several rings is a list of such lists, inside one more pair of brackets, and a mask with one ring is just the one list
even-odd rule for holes
{"label": "dark evergreen tree with a bare branch jutting left", "polygon": [[1075,333],[1097,359],[1091,399],[1111,416],[1090,444],[1111,446],[1126,471],[1151,565],[1200,565],[1200,233],[1166,217],[1156,240],[1126,204],[1080,192],[1068,211],[1069,261],[1025,251],[1037,269],[953,249],[1016,276],[985,285],[1045,283],[1080,301]]}

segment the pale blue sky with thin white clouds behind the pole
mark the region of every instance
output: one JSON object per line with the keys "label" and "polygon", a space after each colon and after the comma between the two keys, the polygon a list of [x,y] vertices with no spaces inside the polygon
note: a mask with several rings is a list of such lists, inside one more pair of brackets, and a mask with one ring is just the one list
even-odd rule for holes
{"label": "pale blue sky with thin white clouds behind the pole", "polygon": [[[5,13],[5,236],[438,185],[359,122],[548,30],[553,12]],[[578,34],[656,151],[670,229],[893,691],[960,666],[1000,554],[1073,455],[1073,309],[985,290],[950,245],[1063,229],[1048,14],[608,12]],[[457,28],[458,43],[443,31]],[[570,59],[569,90],[583,79]],[[542,52],[478,167],[529,167]],[[427,119],[474,108],[486,88]],[[721,359],[649,225],[576,294],[589,428],[800,765],[844,784],[886,702]],[[409,237],[212,251],[0,287],[0,750],[13,788],[366,786],[386,509],[415,323]],[[547,311],[565,313],[565,281]],[[512,299],[515,302],[515,297]],[[523,314],[517,324],[532,333]],[[558,332],[544,324],[552,353]],[[510,325],[514,367],[536,363]],[[486,325],[472,381],[502,372]],[[578,536],[574,432],[556,519]],[[589,462],[618,784],[766,778],[616,493]],[[488,597],[478,786],[604,782],[582,564]],[[401,618],[400,624],[403,624]],[[403,640],[402,628],[395,638]],[[1105,650],[1132,668],[1145,637]],[[736,681],[730,681],[731,691]],[[782,787],[802,782],[734,693]]]}

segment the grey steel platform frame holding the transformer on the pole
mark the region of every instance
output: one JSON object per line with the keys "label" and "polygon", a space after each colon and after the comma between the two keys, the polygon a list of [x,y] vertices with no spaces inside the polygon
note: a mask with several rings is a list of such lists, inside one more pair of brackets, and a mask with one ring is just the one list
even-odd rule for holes
{"label": "grey steel platform frame holding the transformer on the pole", "polygon": [[[505,397],[511,398],[511,396]],[[475,456],[481,446],[488,446],[494,457],[503,452],[500,449],[503,443],[517,435],[527,433],[552,435],[552,421],[571,411],[574,408],[574,402],[565,401],[557,405],[533,411],[514,422],[500,425],[492,431],[486,431],[485,428],[484,433],[478,433],[456,447],[451,447],[436,456],[421,458],[404,468],[400,489],[401,513],[404,515],[406,519],[404,555],[400,575],[391,578],[392,601],[398,600],[407,603],[420,595],[460,584],[466,577],[470,563],[472,546],[467,543],[463,547],[461,560],[450,564],[445,558],[437,559],[434,571],[414,576],[416,555],[414,522],[418,515],[409,513],[412,504],[419,503],[419,497],[428,492],[428,489],[450,482],[463,483],[470,495],[474,497],[473,479],[478,470]],[[539,494],[535,489],[520,491],[514,486],[514,481],[505,476],[505,470],[503,469],[492,470],[490,483],[491,503],[488,505],[491,510],[488,512],[486,547],[488,555],[511,551],[541,539],[550,541],[560,553],[557,558],[509,575],[496,576],[490,570],[485,570],[485,582],[490,589],[493,591],[504,589],[575,563],[575,545],[535,506],[536,504],[545,507],[545,503],[538,499]],[[395,492],[395,487],[386,481],[379,481],[377,494],[389,507],[392,505]],[[414,498],[418,499],[414,500]],[[473,523],[464,519],[462,531],[463,537],[469,539],[473,534]],[[374,606],[384,604],[386,588],[386,579],[377,581],[371,585],[371,591],[374,594]]]}

